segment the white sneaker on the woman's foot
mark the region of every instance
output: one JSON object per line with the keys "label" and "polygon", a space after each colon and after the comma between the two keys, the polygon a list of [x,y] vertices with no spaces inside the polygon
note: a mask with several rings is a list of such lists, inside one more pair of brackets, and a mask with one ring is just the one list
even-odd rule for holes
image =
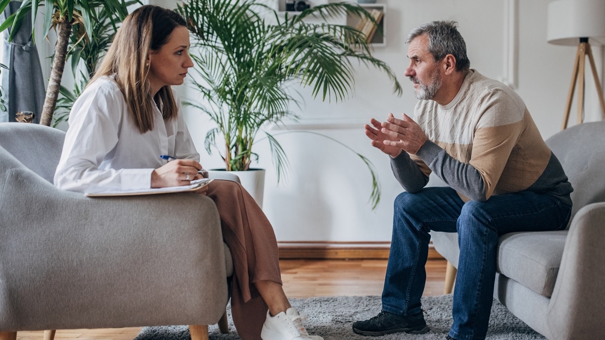
{"label": "white sneaker on the woman's foot", "polygon": [[302,321],[307,319],[306,315],[298,314],[298,311],[293,308],[286,310],[286,313],[281,312],[278,315],[271,316],[267,311],[267,318],[261,331],[261,339],[263,340],[324,340],[321,336],[309,335],[304,329]]}

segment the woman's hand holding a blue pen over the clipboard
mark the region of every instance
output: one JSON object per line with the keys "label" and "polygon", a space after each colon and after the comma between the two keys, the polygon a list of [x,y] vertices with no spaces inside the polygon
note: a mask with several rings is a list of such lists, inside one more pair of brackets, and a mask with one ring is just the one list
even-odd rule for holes
{"label": "woman's hand holding a blue pen over the clipboard", "polygon": [[198,169],[201,169],[201,165],[195,160],[172,160],[151,172],[151,188],[190,185],[192,180],[201,178]]}

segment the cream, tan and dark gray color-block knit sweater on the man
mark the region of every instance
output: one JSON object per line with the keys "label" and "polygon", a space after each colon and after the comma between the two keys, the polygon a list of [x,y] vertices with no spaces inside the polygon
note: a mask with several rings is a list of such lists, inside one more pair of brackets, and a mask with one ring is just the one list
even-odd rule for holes
{"label": "cream, tan and dark gray color-block knit sweater on the man", "polygon": [[465,201],[529,190],[571,205],[573,189],[561,164],[521,97],[503,83],[471,70],[447,105],[420,100],[414,120],[428,142],[416,155],[402,152],[391,160],[408,192],[422,189],[435,172]]}

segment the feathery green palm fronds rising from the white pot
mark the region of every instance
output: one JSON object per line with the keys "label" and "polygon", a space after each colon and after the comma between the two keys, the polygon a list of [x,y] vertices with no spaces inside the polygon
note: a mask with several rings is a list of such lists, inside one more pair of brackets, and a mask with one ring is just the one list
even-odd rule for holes
{"label": "feathery green palm fronds rising from the white pot", "polygon": [[[261,0],[187,0],[177,11],[187,20],[194,38],[191,56],[197,74],[192,84],[204,99],[203,104],[189,104],[216,123],[206,134],[206,150],[217,149],[229,171],[249,170],[258,157],[254,143],[266,138],[279,180],[287,165],[286,153],[263,127],[297,118],[290,111],[290,105],[299,104],[290,86],[295,82],[312,87],[313,97],[343,100],[353,89],[355,62],[360,62],[384,71],[394,92],[401,94],[397,77],[371,55],[364,34],[328,20],[352,13],[376,24],[357,4],[322,4],[281,16]],[[320,24],[305,20],[311,17],[324,20]],[[370,168],[376,206],[376,175],[371,163],[359,156]]]}

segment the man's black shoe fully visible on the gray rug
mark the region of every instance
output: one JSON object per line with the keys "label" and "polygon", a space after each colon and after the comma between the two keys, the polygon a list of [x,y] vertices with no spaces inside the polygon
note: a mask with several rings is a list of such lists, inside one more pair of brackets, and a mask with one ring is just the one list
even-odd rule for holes
{"label": "man's black shoe fully visible on the gray rug", "polygon": [[428,332],[428,327],[422,312],[407,316],[396,315],[383,310],[369,320],[353,322],[353,332],[371,336],[398,332],[424,334]]}

